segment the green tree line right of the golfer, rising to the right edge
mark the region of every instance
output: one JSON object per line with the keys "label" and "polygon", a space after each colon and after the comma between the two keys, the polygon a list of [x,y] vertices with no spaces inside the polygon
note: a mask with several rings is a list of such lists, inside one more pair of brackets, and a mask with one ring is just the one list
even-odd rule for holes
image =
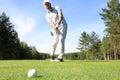
{"label": "green tree line right of the golfer, rising to the right edge", "polygon": [[110,0],[107,2],[107,8],[102,8],[100,16],[106,25],[104,37],[100,39],[95,32],[91,34],[83,32],[78,41],[77,49],[79,52],[66,54],[65,58],[87,60],[120,59],[119,0]]}

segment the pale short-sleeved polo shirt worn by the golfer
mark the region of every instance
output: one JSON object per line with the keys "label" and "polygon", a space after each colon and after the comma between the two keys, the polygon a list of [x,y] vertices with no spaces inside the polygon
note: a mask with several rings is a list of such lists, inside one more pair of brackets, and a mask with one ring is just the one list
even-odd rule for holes
{"label": "pale short-sleeved polo shirt worn by the golfer", "polygon": [[[62,12],[62,11],[59,6],[56,6],[55,8],[52,7],[52,12],[48,11],[45,18],[48,22],[52,21],[56,25],[57,21],[58,21],[58,13],[60,13],[60,12]],[[64,17],[63,17],[60,25],[67,25]]]}

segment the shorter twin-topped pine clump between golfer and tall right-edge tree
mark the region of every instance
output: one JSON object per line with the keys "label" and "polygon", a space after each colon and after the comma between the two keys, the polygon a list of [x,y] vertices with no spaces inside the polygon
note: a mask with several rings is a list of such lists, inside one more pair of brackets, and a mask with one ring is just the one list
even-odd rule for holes
{"label": "shorter twin-topped pine clump between golfer and tall right-edge tree", "polygon": [[93,59],[98,58],[99,52],[100,52],[100,39],[99,36],[92,32],[90,35],[86,32],[83,32],[81,34],[81,37],[78,42],[78,50],[80,50],[80,53],[86,54],[86,58]]}

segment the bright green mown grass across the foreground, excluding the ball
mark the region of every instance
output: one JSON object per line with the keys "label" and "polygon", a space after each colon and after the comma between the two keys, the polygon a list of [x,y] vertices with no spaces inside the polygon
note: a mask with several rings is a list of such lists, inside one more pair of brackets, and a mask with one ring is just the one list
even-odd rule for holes
{"label": "bright green mown grass across the foreground, excluding the ball", "polygon": [[[28,78],[32,68],[38,75]],[[1,60],[0,80],[120,80],[120,61]]]}

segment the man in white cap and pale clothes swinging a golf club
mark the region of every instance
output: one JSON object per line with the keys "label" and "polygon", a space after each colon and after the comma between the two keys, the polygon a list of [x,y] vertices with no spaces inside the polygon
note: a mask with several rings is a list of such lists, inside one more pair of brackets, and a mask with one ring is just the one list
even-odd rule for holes
{"label": "man in white cap and pale clothes swinging a golf club", "polygon": [[[44,1],[45,8],[47,9],[46,20],[52,27],[53,44],[51,51],[51,62],[63,62],[63,54],[65,50],[65,38],[67,33],[67,23],[63,17],[62,11],[59,6],[52,7],[49,0]],[[60,53],[58,59],[55,60],[54,54],[58,42],[60,41]]]}

